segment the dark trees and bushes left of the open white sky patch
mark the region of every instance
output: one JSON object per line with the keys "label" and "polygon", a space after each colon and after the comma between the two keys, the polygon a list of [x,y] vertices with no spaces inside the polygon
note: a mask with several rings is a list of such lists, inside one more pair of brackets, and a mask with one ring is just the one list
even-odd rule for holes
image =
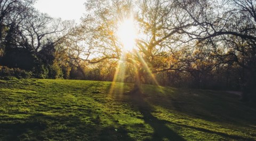
{"label": "dark trees and bushes left of the open white sky patch", "polygon": [[0,1],[1,77],[62,78],[55,46],[72,27],[33,7],[34,0]]}

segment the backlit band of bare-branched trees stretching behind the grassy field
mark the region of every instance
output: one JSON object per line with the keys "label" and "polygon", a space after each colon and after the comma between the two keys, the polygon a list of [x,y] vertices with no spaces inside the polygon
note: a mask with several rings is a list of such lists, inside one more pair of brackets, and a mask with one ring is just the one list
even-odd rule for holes
{"label": "backlit band of bare-branched trees stretching behind the grassy field", "polygon": [[254,0],[88,0],[79,24],[41,13],[35,2],[0,1],[3,80],[235,90],[256,101]]}

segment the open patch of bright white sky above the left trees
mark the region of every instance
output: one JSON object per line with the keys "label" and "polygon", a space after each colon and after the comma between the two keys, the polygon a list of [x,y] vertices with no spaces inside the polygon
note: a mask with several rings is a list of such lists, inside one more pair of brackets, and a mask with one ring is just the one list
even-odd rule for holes
{"label": "open patch of bright white sky above the left trees", "polygon": [[84,2],[85,0],[38,0],[34,6],[52,17],[79,23],[80,17],[85,13]]}

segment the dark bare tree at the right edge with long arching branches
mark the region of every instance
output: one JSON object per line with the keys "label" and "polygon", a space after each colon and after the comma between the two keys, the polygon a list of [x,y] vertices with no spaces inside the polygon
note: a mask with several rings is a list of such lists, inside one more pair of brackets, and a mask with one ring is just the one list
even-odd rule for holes
{"label": "dark bare tree at the right edge with long arching branches", "polygon": [[[211,55],[223,64],[243,68],[243,99],[255,96],[255,1],[176,1],[196,23],[194,32],[182,29],[190,40],[211,46]],[[220,51],[221,50],[221,51]],[[245,73],[246,72],[246,73]]]}

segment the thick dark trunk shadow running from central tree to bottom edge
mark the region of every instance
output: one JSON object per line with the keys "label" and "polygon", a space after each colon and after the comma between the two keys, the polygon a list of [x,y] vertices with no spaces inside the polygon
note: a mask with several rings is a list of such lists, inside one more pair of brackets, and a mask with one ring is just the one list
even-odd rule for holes
{"label": "thick dark trunk shadow running from central tree to bottom edge", "polygon": [[135,105],[143,115],[143,120],[154,129],[154,134],[151,140],[185,140],[169,127],[165,125],[163,120],[159,120],[151,114],[153,108],[144,100],[145,94],[132,94],[132,104]]}

